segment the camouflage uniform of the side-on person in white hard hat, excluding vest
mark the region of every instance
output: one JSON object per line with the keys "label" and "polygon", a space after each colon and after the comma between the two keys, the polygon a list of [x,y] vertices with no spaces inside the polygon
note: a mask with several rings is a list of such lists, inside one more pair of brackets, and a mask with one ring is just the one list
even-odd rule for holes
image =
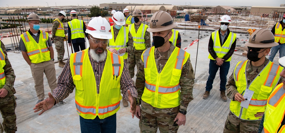
{"label": "camouflage uniform of the side-on person in white hard hat, excluding vest", "polygon": [[65,37],[61,37],[61,36],[55,36],[55,32],[57,30],[59,26],[59,22],[58,21],[54,21],[52,23],[52,38],[54,39],[54,45],[55,45],[55,49],[57,52],[57,60],[58,61],[62,61],[63,56],[64,56],[64,39]]}

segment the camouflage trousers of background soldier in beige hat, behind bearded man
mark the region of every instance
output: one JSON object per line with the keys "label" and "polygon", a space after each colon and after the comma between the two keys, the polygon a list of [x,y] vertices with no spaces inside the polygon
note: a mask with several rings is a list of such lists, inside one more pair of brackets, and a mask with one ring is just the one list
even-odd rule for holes
{"label": "camouflage trousers of background soldier in beige hat, behind bearded man", "polygon": [[131,78],[133,78],[135,76],[135,66],[137,66],[137,68],[139,67],[139,63],[141,61],[141,55],[142,54],[143,54],[143,52],[129,53],[128,65],[129,65],[129,73],[131,75]]}

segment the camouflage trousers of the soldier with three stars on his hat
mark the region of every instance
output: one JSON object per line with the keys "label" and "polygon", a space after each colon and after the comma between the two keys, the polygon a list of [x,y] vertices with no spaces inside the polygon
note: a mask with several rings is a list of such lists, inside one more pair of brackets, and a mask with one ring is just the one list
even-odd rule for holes
{"label": "camouflage trousers of the soldier with three stars on his hat", "polygon": [[141,117],[139,127],[141,133],[176,133],[179,126],[173,126],[174,119],[179,112],[179,106],[160,109],[141,101]]}

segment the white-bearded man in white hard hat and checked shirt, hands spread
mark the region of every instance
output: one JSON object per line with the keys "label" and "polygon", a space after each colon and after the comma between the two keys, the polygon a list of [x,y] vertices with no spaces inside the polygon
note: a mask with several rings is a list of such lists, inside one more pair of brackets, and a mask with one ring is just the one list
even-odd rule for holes
{"label": "white-bearded man in white hard hat and checked shirt, hands spread", "polygon": [[[113,36],[109,22],[101,16],[90,20],[86,32],[90,47],[73,53],[58,77],[54,93],[34,107],[39,115],[68,97],[75,89],[76,111],[80,115],[82,133],[116,132],[116,112],[123,98],[131,103],[134,118],[137,88],[123,57],[108,50]],[[94,76],[95,74],[95,76]],[[121,87],[121,89],[120,89]]]}

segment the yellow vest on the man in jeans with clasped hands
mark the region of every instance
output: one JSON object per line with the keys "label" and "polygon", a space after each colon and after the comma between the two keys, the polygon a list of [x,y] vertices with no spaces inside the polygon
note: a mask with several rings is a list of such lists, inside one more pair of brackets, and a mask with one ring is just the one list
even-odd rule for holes
{"label": "yellow vest on the man in jeans with clasped hands", "polygon": [[[222,45],[222,47],[221,47],[220,37],[219,37],[218,31],[213,32],[211,34],[211,37],[212,37],[213,42],[214,42],[214,48],[213,49],[216,52],[217,57],[223,58],[229,52],[231,45],[233,44],[233,42],[237,38],[237,34],[230,32],[227,40],[224,40],[225,43]],[[211,56],[211,54],[209,54],[208,58],[211,60],[216,60]],[[227,61],[231,61],[231,57]]]}

